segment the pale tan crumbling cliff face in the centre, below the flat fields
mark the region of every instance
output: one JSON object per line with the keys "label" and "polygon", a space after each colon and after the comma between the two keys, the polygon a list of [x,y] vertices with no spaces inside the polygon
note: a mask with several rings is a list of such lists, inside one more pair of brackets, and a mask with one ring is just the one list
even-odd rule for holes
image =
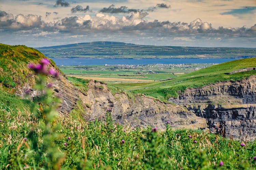
{"label": "pale tan crumbling cliff face in the centre, below the flat fields", "polygon": [[128,98],[125,94],[113,95],[105,84],[90,81],[87,96],[80,94],[83,103],[89,105],[85,112],[87,119],[104,118],[107,109],[115,122],[129,125],[148,125],[165,129],[167,122],[173,128],[197,129],[207,126],[205,119],[197,117],[180,106],[163,104],[152,98],[137,96]]}

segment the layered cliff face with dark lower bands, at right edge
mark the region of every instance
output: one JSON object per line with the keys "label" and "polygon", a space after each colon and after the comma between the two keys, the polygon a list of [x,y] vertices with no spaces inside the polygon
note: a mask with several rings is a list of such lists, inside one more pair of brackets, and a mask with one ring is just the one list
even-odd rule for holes
{"label": "layered cliff face with dark lower bands, at right edge", "polygon": [[170,102],[185,106],[207,121],[213,133],[234,139],[256,138],[256,77],[189,88]]}

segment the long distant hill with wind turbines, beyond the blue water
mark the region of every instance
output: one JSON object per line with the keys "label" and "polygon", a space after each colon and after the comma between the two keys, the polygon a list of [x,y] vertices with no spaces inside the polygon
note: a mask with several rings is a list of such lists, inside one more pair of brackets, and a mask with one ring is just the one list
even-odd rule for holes
{"label": "long distant hill with wind turbines, beyond the blue water", "polygon": [[50,58],[250,58],[256,48],[179,47],[97,41],[37,48]]}

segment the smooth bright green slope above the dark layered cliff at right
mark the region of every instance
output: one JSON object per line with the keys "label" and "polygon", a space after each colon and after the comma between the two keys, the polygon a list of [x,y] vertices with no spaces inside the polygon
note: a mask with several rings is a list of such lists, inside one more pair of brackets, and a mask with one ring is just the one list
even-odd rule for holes
{"label": "smooth bright green slope above the dark layered cliff at right", "polygon": [[[184,91],[188,87],[203,87],[216,82],[229,80],[236,81],[249,77],[252,74],[256,74],[255,70],[230,75],[224,74],[247,67],[256,67],[256,58],[247,58],[214,65],[205,69],[180,75],[179,77],[168,81],[143,84],[120,83],[115,84],[114,86],[125,90],[131,90],[133,93],[145,94],[146,96],[151,96],[165,101],[169,97],[177,97],[177,92]],[[144,89],[144,87],[147,88]]]}

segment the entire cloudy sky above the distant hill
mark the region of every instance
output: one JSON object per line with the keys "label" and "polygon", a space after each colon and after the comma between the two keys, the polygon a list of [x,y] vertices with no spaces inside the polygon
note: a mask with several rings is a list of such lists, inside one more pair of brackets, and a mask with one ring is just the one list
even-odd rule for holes
{"label": "entire cloudy sky above the distant hill", "polygon": [[256,0],[0,0],[0,43],[256,48]]}

